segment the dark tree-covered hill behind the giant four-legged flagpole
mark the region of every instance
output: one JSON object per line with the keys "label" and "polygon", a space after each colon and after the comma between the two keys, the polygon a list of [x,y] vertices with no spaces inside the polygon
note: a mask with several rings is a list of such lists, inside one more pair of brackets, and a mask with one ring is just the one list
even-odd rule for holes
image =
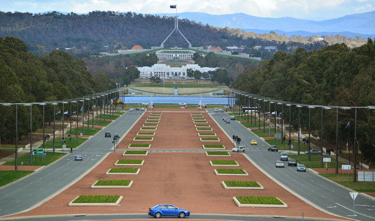
{"label": "dark tree-covered hill behind the giant four-legged flagpole", "polygon": [[[32,14],[0,12],[0,36],[11,35],[24,41],[31,51],[51,51],[55,48],[75,47],[89,50],[103,49],[109,45],[114,49],[122,46],[144,48],[159,46],[174,28],[174,17],[93,11],[78,15],[59,12]],[[266,28],[266,27],[265,27]],[[357,47],[365,42],[351,38],[333,36],[331,43],[316,41],[316,36],[286,36],[276,33],[256,34],[240,29],[215,28],[209,24],[195,23],[188,19],[179,20],[179,29],[193,46],[286,46],[304,47],[306,50],[321,49],[331,43],[344,42]],[[165,47],[186,47],[187,43],[178,33],[171,35]],[[283,47],[285,48],[285,44]]]}

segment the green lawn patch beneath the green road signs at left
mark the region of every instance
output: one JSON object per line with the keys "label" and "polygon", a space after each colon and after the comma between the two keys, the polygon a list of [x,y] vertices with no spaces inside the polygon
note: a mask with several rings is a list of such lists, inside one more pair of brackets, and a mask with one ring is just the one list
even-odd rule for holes
{"label": "green lawn patch beneath the green road signs at left", "polygon": [[[53,153],[53,152],[46,152],[46,163],[44,164],[43,156],[40,155],[39,159],[38,156],[33,156],[32,159],[32,165],[48,165],[61,157],[65,156],[66,153]],[[24,154],[20,157],[18,157],[18,170],[21,170],[20,165],[22,162],[24,162],[24,165],[30,165],[30,154]],[[6,163],[3,163],[2,165],[14,165],[14,160],[8,161]]]}

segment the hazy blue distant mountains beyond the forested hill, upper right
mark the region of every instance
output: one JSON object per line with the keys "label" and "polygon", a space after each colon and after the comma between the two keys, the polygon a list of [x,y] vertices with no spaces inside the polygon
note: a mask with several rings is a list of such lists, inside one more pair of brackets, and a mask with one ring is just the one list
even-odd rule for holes
{"label": "hazy blue distant mountains beyond the forested hill, upper right", "polygon": [[[174,16],[173,13],[160,13],[160,16]],[[255,33],[286,33],[288,36],[296,34],[309,36],[318,35],[346,35],[354,38],[361,35],[362,38],[375,36],[375,11],[359,14],[350,14],[337,19],[325,21],[311,21],[294,19],[293,17],[281,17],[273,19],[270,17],[256,17],[244,13],[213,15],[201,12],[178,13],[179,19],[189,19],[190,21],[209,24],[214,27],[240,28],[245,31]]]}

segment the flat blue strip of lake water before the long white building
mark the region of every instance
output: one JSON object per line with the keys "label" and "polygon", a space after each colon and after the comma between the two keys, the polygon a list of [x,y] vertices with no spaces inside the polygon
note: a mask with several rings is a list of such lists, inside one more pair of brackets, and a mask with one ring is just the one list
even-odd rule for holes
{"label": "flat blue strip of lake water before the long white building", "polygon": [[[129,96],[129,97],[122,97],[121,100],[125,104],[138,104],[138,103],[151,103],[150,96]],[[200,97],[154,97],[153,96],[153,103],[154,104],[178,104],[178,103],[186,103],[186,104],[198,104],[200,101]],[[202,97],[203,104],[228,104],[227,97]]]}

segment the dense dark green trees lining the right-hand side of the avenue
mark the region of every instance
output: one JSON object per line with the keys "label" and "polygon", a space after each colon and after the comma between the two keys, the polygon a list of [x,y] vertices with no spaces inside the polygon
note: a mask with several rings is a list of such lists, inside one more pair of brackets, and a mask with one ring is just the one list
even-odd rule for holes
{"label": "dense dark green trees lining the right-hand side of the avenue", "polygon": [[[349,50],[345,44],[334,44],[321,50],[298,48],[295,54],[277,52],[273,59],[261,61],[255,68],[241,73],[232,87],[249,93],[301,104],[324,106],[375,105],[375,44]],[[267,105],[266,105],[267,106]],[[278,112],[281,111],[277,105]],[[263,105],[262,105],[263,107]],[[266,107],[268,110],[268,107]],[[291,108],[293,128],[298,126],[298,108]],[[273,112],[273,108],[272,108]],[[284,107],[289,120],[289,108]],[[301,108],[301,126],[308,128],[308,108]],[[320,137],[322,108],[311,109],[311,128]],[[346,127],[350,121],[350,127]],[[357,140],[354,141],[354,109],[339,108],[339,146],[348,142],[372,162],[375,160],[375,112],[357,111]],[[324,110],[323,137],[332,143],[336,139],[336,110]]]}

